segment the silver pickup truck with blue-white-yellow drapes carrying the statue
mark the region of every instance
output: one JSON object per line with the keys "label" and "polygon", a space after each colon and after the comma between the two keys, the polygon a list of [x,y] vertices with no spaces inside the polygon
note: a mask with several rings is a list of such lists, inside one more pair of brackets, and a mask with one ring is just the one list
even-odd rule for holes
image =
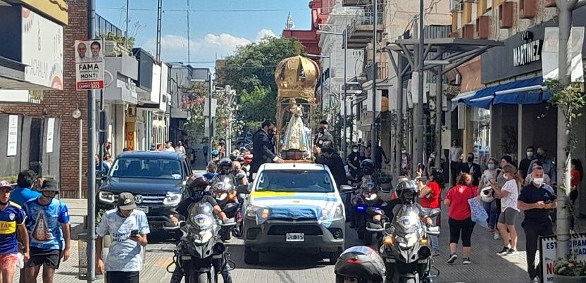
{"label": "silver pickup truck with blue-white-yellow drapes carrying the statue", "polygon": [[[351,192],[342,186],[342,193]],[[344,249],[344,204],[328,166],[261,165],[244,201],[244,261],[259,262],[259,253],[282,248],[327,253],[335,263]]]}

